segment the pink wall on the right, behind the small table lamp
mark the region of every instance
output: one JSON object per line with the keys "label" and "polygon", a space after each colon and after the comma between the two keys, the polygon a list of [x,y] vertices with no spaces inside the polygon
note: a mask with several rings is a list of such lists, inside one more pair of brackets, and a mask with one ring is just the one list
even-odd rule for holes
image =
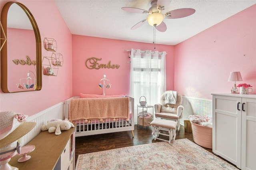
{"label": "pink wall on the right, behind the small table lamp", "polygon": [[212,99],[230,93],[231,71],[256,94],[256,5],[175,46],[174,89],[181,95]]}

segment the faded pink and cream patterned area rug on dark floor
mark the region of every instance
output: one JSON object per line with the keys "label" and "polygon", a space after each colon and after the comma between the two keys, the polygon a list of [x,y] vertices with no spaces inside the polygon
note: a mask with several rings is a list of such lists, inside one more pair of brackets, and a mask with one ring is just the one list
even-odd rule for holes
{"label": "faded pink and cream patterned area rug on dark floor", "polygon": [[188,139],[78,155],[76,170],[234,170]]}

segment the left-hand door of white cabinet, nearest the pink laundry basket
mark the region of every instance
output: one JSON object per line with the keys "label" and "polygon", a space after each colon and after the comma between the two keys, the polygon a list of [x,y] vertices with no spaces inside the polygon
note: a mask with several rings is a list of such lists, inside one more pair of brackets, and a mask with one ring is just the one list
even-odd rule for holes
{"label": "left-hand door of white cabinet, nearest the pink laundry basket", "polygon": [[240,97],[213,95],[212,152],[241,166]]}

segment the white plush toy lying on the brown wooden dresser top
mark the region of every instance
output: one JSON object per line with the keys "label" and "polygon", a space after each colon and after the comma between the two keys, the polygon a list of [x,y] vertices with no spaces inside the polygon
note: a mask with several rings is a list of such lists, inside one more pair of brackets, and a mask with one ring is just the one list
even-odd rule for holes
{"label": "white plush toy lying on the brown wooden dresser top", "polygon": [[55,132],[56,135],[61,134],[61,130],[68,130],[71,127],[75,127],[73,123],[67,120],[61,120],[61,119],[52,119],[50,121],[47,121],[46,125],[43,125],[41,127],[41,130],[48,130],[49,133]]}

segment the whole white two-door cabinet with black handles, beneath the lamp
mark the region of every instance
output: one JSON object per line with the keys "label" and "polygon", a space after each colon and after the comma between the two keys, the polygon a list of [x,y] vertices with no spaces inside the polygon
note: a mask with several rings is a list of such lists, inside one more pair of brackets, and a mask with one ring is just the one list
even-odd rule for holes
{"label": "whole white two-door cabinet with black handles, beneath the lamp", "polygon": [[212,152],[256,169],[256,95],[212,94]]}

